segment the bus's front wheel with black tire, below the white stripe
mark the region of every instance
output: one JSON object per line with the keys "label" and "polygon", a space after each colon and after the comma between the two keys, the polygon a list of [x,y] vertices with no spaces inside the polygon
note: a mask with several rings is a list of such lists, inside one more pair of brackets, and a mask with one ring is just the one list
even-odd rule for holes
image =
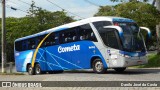
{"label": "bus's front wheel with black tire, below the white stripe", "polygon": [[101,59],[95,59],[92,63],[93,71],[98,74],[103,74],[106,72],[106,68],[101,61]]}

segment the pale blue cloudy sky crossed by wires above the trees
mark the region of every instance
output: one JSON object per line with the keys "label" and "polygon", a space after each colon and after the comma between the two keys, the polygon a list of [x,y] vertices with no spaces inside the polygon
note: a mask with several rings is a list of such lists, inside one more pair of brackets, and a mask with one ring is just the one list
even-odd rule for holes
{"label": "pale blue cloudy sky crossed by wires above the trees", "polygon": [[[20,10],[12,10],[6,7],[6,17],[24,17],[27,15],[27,10],[29,9],[32,0],[6,0],[7,7],[14,7]],[[46,9],[48,11],[61,11],[62,9],[48,2],[48,0],[33,0],[35,5]],[[66,9],[67,11],[74,13],[82,18],[92,17],[96,12],[98,12],[99,6],[105,5],[116,5],[117,2],[111,2],[110,0],[49,0],[60,7]],[[27,3],[27,4],[26,4]],[[2,17],[2,5],[0,5],[0,18]],[[70,16],[75,16],[68,13]],[[82,19],[75,16],[76,19]]]}

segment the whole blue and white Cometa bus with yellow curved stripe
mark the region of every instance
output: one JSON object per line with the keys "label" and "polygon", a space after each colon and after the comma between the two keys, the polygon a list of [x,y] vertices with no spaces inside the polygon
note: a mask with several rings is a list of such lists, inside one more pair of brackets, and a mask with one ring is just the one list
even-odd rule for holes
{"label": "whole blue and white Cometa bus with yellow curved stripe", "polygon": [[22,37],[15,40],[16,70],[31,75],[75,69],[122,72],[147,63],[142,29],[150,35],[128,18],[91,17]]}

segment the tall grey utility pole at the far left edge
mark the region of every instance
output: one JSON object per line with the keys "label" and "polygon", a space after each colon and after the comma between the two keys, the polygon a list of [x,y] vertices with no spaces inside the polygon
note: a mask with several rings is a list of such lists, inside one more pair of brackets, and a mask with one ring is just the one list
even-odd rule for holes
{"label": "tall grey utility pole at the far left edge", "polygon": [[5,30],[5,0],[2,0],[2,37],[1,37],[1,49],[2,49],[2,73],[5,72],[6,66],[6,30]]}

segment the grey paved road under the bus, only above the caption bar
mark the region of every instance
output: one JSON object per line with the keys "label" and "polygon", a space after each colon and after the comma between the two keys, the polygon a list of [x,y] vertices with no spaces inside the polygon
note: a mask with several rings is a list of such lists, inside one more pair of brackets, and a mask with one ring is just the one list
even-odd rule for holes
{"label": "grey paved road under the bus, only above the caption bar", "polygon": [[65,71],[59,74],[0,75],[1,81],[160,81],[160,69],[127,69],[117,73],[110,69],[105,74],[92,70]]}

